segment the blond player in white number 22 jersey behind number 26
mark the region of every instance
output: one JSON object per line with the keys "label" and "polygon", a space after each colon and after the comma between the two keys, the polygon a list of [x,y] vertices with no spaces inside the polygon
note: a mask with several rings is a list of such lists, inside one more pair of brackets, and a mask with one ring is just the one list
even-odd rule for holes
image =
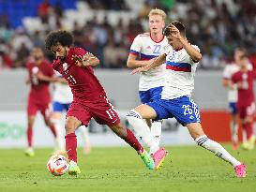
{"label": "blond player in white number 22 jersey behind number 26", "polygon": [[[161,9],[155,8],[149,12],[148,23],[150,33],[143,33],[134,38],[128,55],[127,66],[129,68],[146,66],[163,52],[163,48],[168,45],[167,38],[163,35],[165,18],[166,14]],[[143,104],[160,99],[164,85],[164,73],[164,64],[141,73],[139,95]],[[152,123],[150,119],[146,121],[154,136],[154,140],[159,146],[162,121],[153,121]],[[150,151],[152,152],[152,149]]]}

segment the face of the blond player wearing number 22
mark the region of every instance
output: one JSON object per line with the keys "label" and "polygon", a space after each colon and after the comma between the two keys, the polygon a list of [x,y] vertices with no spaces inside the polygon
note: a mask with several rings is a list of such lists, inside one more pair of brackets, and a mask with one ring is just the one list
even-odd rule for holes
{"label": "face of the blond player wearing number 22", "polygon": [[151,33],[161,33],[162,34],[162,30],[164,28],[164,21],[162,19],[162,16],[160,15],[151,15],[149,17],[149,28],[150,28],[150,32]]}

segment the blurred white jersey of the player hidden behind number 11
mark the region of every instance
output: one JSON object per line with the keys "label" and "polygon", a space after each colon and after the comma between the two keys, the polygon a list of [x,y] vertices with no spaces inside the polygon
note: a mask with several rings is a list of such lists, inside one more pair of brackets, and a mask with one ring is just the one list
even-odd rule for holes
{"label": "blurred white jersey of the player hidden behind number 11", "polygon": [[68,104],[73,101],[73,94],[68,84],[61,82],[54,83],[53,101],[57,101],[62,104]]}

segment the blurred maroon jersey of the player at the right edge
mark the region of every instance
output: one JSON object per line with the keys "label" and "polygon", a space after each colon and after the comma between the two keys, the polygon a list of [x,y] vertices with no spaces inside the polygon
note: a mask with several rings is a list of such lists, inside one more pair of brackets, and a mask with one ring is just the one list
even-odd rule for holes
{"label": "blurred maroon jersey of the player at the right edge", "polygon": [[238,88],[237,107],[248,107],[254,101],[253,80],[256,79],[254,71],[237,71],[232,76],[233,83],[241,83],[242,87]]}

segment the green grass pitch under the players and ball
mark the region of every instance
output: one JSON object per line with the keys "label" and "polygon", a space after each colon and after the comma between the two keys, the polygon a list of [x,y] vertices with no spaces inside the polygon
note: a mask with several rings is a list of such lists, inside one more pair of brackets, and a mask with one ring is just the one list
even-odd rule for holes
{"label": "green grass pitch under the players and ball", "polygon": [[[225,147],[231,151],[230,145]],[[23,150],[0,150],[0,191],[64,192],[250,192],[256,191],[256,150],[232,154],[248,166],[248,177],[238,179],[228,163],[197,146],[168,147],[161,170],[147,170],[141,158],[128,148],[79,150],[79,177],[52,176],[46,169],[50,149],[26,157]]]}

